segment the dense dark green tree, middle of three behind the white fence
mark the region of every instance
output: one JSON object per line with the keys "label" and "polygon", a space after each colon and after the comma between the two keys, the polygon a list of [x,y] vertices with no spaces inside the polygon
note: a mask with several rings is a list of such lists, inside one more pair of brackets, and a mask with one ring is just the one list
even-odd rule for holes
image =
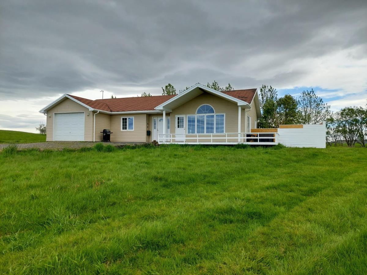
{"label": "dense dark green tree, middle of three behind the white fence", "polygon": [[298,121],[297,100],[289,94],[277,100],[277,126],[279,124],[296,124]]}

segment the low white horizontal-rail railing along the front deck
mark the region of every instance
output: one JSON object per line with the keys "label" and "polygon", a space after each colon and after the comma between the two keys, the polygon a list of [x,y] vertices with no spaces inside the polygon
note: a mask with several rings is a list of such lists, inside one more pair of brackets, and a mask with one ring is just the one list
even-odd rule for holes
{"label": "low white horizontal-rail railing along the front deck", "polygon": [[159,143],[178,144],[278,144],[278,133],[257,132],[257,133],[206,133],[206,134],[158,134]]}

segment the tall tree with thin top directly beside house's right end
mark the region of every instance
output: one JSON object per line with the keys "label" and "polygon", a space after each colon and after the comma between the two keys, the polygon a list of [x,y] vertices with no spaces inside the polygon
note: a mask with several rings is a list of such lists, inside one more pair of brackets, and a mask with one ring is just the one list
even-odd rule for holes
{"label": "tall tree with thin top directly beside house's right end", "polygon": [[260,108],[262,117],[259,120],[261,128],[277,128],[279,119],[278,109],[278,92],[271,86],[262,85],[260,88]]}

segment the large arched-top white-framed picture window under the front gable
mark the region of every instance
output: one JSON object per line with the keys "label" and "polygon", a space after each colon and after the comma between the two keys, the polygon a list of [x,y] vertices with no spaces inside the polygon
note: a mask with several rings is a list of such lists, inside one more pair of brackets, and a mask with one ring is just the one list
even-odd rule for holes
{"label": "large arched-top white-framed picture window under the front gable", "polygon": [[214,108],[208,104],[199,106],[195,115],[187,116],[187,133],[224,133],[225,115],[215,114]]}

